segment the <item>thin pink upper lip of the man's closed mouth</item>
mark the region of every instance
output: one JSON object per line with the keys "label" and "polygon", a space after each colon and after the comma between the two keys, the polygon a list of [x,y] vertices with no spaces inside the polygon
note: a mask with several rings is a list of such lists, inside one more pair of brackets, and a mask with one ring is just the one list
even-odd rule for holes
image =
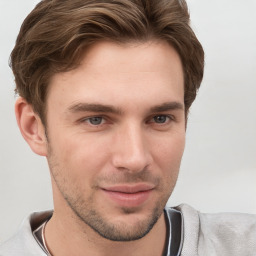
{"label": "thin pink upper lip of the man's closed mouth", "polygon": [[114,185],[109,187],[102,188],[103,190],[109,191],[109,192],[119,192],[119,193],[127,193],[127,194],[133,194],[138,193],[142,191],[148,191],[152,190],[155,186],[152,184],[133,184],[133,185]]}

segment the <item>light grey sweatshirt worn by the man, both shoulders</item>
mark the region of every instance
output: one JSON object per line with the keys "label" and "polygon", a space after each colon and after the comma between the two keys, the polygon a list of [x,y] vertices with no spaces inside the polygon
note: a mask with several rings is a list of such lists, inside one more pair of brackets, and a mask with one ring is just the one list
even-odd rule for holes
{"label": "light grey sweatshirt worn by the man, both shoulders", "polygon": [[[32,231],[52,211],[33,213],[18,233],[0,246],[0,256],[46,256]],[[169,238],[164,256],[256,256],[256,216],[203,214],[188,205],[166,208]]]}

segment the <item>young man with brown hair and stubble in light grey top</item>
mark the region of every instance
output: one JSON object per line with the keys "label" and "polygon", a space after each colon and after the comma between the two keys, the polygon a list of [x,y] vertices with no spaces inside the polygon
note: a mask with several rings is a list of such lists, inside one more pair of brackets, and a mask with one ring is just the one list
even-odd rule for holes
{"label": "young man with brown hair and stubble in light grey top", "polygon": [[203,77],[185,1],[44,0],[11,64],[54,211],[32,214],[0,255],[255,255],[255,216],[165,208]]}

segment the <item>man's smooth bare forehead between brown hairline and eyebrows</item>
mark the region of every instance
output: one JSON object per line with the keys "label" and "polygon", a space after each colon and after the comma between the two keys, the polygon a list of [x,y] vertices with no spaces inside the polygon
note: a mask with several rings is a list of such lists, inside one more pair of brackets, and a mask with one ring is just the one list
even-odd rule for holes
{"label": "man's smooth bare forehead between brown hairline and eyebrows", "polygon": [[179,55],[167,42],[100,42],[86,50],[76,69],[52,77],[48,100],[109,105],[139,104],[143,99],[158,105],[183,100],[183,87]]}

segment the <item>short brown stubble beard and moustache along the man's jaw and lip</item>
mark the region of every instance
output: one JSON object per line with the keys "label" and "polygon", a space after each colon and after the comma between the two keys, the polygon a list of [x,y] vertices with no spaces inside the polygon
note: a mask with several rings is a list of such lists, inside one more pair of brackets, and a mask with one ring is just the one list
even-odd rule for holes
{"label": "short brown stubble beard and moustache along the man's jaw and lip", "polygon": [[[170,188],[170,192],[161,191],[162,196],[159,197],[153,209],[147,213],[147,216],[142,221],[131,227],[129,223],[125,223],[124,221],[108,220],[104,216],[104,212],[95,206],[94,194],[97,193],[98,184],[103,181],[111,185],[150,182],[161,190],[164,186],[162,186],[160,178],[153,177],[148,169],[134,173],[122,171],[118,176],[102,176],[91,186],[94,192],[89,197],[84,198],[81,196],[84,193],[79,190],[79,186],[70,182],[68,178],[63,177],[63,173],[71,172],[71,170],[67,171],[63,167],[60,167],[52,150],[49,150],[48,163],[58,190],[75,216],[101,237],[111,241],[135,241],[147,235],[163,214],[163,209],[174,187]],[[124,215],[136,213],[136,209],[126,207],[121,208],[121,211]],[[84,232],[86,233],[86,229],[84,229]]]}

